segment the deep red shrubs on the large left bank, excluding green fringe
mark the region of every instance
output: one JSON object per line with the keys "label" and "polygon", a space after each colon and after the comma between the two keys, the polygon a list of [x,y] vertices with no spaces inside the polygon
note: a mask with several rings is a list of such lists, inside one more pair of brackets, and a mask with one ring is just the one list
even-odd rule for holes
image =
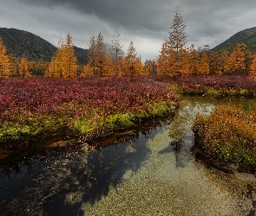
{"label": "deep red shrubs on the large left bank, excluding green fringe", "polygon": [[[63,111],[69,117],[79,118],[88,114],[89,108],[101,108],[105,115],[110,115],[177,97],[166,84],[143,77],[8,79],[1,81],[0,121],[17,115],[57,115]],[[70,107],[72,104],[85,109],[75,110]]]}

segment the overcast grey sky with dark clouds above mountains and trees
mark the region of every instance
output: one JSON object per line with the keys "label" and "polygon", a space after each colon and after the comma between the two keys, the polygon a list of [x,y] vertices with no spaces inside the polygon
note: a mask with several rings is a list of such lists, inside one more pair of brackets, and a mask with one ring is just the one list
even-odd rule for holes
{"label": "overcast grey sky with dark clouds above mountains and trees", "polygon": [[116,29],[124,52],[133,41],[146,60],[159,55],[177,7],[188,47],[213,48],[256,26],[256,0],[0,0],[0,27],[29,31],[55,46],[69,31],[80,48],[89,48],[99,32],[111,44]]}

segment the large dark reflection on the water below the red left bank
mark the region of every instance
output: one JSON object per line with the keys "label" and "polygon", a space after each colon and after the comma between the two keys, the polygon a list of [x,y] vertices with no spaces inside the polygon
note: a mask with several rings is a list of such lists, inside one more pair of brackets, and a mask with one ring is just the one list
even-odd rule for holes
{"label": "large dark reflection on the water below the red left bank", "polygon": [[[89,145],[61,150],[47,149],[11,167],[0,165],[3,185],[0,208],[3,213],[49,215],[82,214],[82,203],[91,205],[106,196],[109,187],[116,187],[129,170],[136,172],[148,159],[148,137],[159,128],[135,132],[125,142],[88,151]],[[143,135],[144,134],[144,135]],[[131,140],[132,139],[132,140]],[[29,172],[28,172],[29,171]],[[10,174],[16,174],[8,176]],[[4,177],[5,175],[5,177]],[[0,211],[0,212],[1,212]]]}

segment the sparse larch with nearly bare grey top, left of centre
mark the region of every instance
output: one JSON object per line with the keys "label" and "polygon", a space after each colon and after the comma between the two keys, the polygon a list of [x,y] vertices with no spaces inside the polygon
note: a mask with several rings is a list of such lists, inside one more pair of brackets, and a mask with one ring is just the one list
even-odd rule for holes
{"label": "sparse larch with nearly bare grey top, left of centre", "polygon": [[115,70],[115,75],[120,76],[121,73],[121,65],[123,61],[123,51],[121,50],[121,42],[119,40],[120,34],[115,30],[115,34],[113,35],[112,44],[110,47],[111,59],[113,62],[113,67]]}

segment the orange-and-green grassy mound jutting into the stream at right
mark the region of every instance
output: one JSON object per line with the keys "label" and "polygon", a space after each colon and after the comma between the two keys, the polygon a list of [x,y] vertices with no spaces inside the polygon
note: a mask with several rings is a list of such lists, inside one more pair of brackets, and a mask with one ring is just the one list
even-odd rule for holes
{"label": "orange-and-green grassy mound jutting into the stream at right", "polygon": [[218,105],[193,124],[195,145],[218,168],[256,173],[256,105]]}

